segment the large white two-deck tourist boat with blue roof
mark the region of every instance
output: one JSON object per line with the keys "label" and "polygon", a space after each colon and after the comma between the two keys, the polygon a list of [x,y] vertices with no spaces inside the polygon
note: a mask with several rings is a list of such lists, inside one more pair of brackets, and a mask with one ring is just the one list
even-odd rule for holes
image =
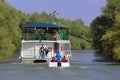
{"label": "large white two-deck tourist boat with blue roof", "polygon": [[[59,52],[62,57],[66,56],[69,61],[71,43],[67,27],[50,23],[32,23],[24,25],[22,33],[20,58],[23,63],[50,62],[55,52]],[[39,54],[42,45],[48,50],[44,57]],[[52,67],[52,63],[49,64]]]}

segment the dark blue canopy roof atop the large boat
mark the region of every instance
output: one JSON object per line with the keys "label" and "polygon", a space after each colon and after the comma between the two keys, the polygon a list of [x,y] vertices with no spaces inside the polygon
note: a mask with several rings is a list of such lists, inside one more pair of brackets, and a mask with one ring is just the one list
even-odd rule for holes
{"label": "dark blue canopy roof atop the large boat", "polygon": [[59,26],[57,24],[50,24],[50,23],[31,23],[23,26],[23,28],[60,28],[60,29],[67,29],[65,26]]}

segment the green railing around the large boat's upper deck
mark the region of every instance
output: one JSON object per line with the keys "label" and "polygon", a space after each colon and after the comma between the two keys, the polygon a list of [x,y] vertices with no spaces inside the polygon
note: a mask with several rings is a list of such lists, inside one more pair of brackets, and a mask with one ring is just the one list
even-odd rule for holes
{"label": "green railing around the large boat's upper deck", "polygon": [[51,41],[56,41],[56,40],[68,40],[68,35],[64,33],[59,33],[59,34],[37,34],[37,33],[24,33],[23,34],[23,39],[24,40],[51,40]]}

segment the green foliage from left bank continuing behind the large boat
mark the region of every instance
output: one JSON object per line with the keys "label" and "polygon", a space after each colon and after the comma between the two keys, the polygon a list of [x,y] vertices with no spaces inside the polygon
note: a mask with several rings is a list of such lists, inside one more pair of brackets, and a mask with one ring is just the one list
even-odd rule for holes
{"label": "green foliage from left bank continuing behind the large boat", "polygon": [[20,49],[22,26],[28,23],[47,22],[69,27],[72,49],[91,49],[90,28],[81,19],[70,21],[55,14],[43,12],[24,14],[0,0],[0,60],[12,56]]}

